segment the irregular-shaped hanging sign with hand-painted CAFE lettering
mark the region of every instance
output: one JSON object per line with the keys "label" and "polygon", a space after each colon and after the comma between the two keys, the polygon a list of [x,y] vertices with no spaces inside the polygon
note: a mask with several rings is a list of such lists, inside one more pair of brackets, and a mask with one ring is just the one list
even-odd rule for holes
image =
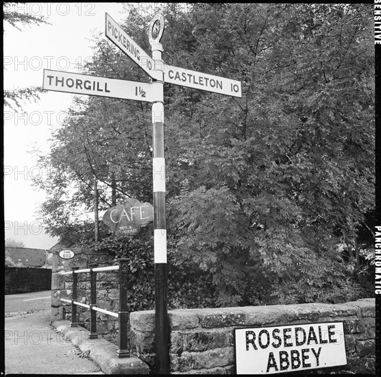
{"label": "irregular-shaped hanging sign with hand-painted CAFE lettering", "polygon": [[140,228],[147,226],[151,221],[153,221],[153,206],[132,198],[108,208],[103,215],[103,223],[114,234],[128,236],[136,236],[140,233]]}

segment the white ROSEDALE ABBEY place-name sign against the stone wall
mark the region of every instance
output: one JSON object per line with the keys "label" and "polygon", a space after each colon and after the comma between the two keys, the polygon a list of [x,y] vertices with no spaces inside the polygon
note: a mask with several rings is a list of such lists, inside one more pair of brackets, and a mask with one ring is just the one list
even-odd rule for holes
{"label": "white ROSEDALE ABBEY place-name sign against the stone wall", "polygon": [[274,374],[346,365],[343,322],[239,328],[236,374]]}

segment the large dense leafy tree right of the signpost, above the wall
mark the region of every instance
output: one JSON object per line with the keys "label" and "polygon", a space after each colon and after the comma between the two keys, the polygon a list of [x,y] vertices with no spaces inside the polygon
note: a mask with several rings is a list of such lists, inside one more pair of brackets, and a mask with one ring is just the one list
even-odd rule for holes
{"label": "large dense leafy tree right of the signpost, above the wall", "polygon": [[374,202],[369,6],[197,4],[190,17],[187,67],[245,95],[171,97],[177,250],[213,271],[221,305],[358,294],[342,289],[334,230],[355,236]]}

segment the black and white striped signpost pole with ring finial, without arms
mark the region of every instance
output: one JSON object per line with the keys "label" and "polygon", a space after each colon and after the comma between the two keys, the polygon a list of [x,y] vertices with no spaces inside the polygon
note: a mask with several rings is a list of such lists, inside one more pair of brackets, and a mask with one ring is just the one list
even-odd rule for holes
{"label": "black and white striped signpost pole with ring finial, without arms", "polygon": [[[153,38],[153,28],[157,27]],[[153,260],[155,263],[155,331],[156,374],[169,374],[169,319],[167,283],[167,229],[165,223],[165,159],[164,159],[164,66],[160,38],[164,17],[156,14],[149,27],[154,70],[161,79],[153,82],[159,99],[152,104],[153,125]]]}

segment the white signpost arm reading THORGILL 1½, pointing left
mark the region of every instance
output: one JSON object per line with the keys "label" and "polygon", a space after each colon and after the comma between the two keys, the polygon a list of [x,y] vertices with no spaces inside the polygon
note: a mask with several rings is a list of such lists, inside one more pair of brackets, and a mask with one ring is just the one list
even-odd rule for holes
{"label": "white signpost arm reading THORGILL 1\u00bd, pointing left", "polygon": [[98,95],[136,101],[160,101],[160,93],[156,86],[149,82],[109,79],[107,77],[82,75],[66,71],[51,71],[44,69],[44,84],[46,90],[74,93],[79,95]]}

